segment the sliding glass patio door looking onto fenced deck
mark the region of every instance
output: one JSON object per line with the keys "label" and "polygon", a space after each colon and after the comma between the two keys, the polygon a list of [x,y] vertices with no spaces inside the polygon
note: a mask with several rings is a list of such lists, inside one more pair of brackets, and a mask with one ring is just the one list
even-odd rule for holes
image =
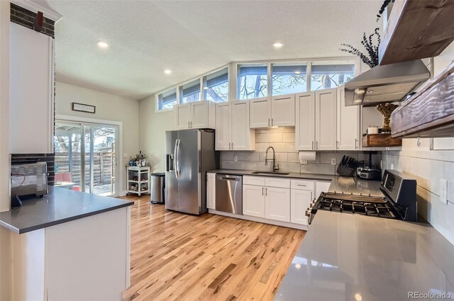
{"label": "sliding glass patio door looking onto fenced deck", "polygon": [[118,127],[55,122],[55,186],[116,195]]}

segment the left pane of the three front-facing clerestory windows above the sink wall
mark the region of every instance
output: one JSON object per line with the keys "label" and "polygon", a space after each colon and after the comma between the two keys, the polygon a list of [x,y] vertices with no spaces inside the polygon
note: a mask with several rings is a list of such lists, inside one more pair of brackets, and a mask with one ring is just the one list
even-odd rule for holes
{"label": "left pane of the three front-facing clerestory windows above the sink wall", "polygon": [[238,66],[238,100],[268,96],[266,64]]}

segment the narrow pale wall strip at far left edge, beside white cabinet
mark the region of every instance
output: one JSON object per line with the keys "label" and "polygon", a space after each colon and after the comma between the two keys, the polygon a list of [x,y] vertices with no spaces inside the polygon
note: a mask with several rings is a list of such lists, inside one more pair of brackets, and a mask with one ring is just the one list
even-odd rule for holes
{"label": "narrow pale wall strip at far left edge, beside white cabinet", "polygon": [[[9,1],[0,1],[0,211],[9,204]],[[12,300],[11,251],[11,232],[0,227],[0,300]]]}

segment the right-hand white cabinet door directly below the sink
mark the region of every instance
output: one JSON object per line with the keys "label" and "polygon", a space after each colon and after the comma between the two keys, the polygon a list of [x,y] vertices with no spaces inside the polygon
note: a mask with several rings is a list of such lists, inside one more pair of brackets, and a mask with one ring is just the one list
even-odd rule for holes
{"label": "right-hand white cabinet door directly below the sink", "polygon": [[289,188],[265,187],[265,218],[290,222]]}

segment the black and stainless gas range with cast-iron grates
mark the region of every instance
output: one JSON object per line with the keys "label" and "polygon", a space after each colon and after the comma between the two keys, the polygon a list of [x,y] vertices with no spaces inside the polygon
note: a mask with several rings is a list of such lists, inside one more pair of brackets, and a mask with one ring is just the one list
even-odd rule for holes
{"label": "black and stainless gas range with cast-iron grates", "polygon": [[416,180],[386,170],[380,191],[383,197],[336,191],[321,193],[306,210],[308,223],[311,224],[318,210],[416,222]]}

